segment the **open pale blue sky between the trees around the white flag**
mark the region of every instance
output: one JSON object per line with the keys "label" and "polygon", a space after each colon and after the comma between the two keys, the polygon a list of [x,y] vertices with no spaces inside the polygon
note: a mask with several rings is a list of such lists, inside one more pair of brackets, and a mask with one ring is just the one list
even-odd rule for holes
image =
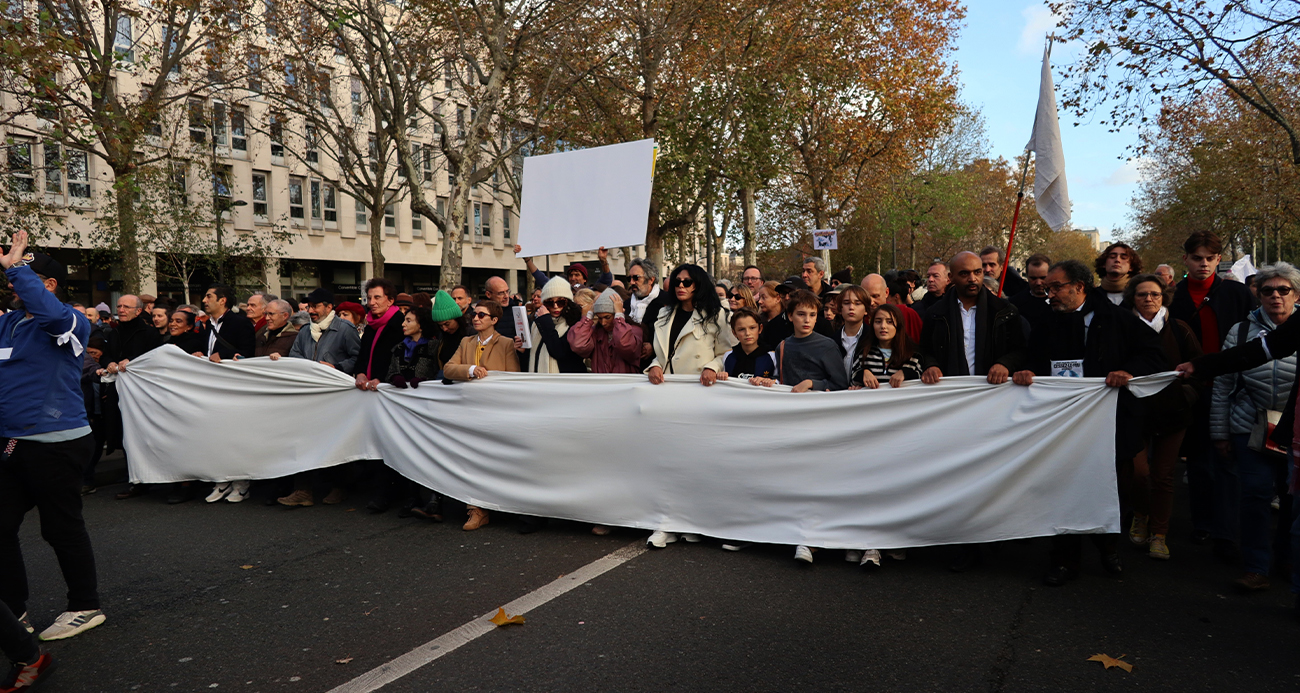
{"label": "open pale blue sky between the trees around the white flag", "polygon": [[[962,100],[984,114],[993,156],[1013,160],[1024,151],[1037,108],[1044,36],[1056,26],[1048,7],[1031,0],[968,0],[966,26],[957,40],[954,60]],[[1074,60],[1078,46],[1052,48],[1057,101],[1061,69]],[[1093,122],[1088,122],[1088,121]],[[1138,187],[1138,166],[1127,147],[1136,130],[1109,133],[1095,121],[1061,112],[1066,182],[1075,228],[1096,226],[1101,239],[1114,229],[1131,226],[1128,200]],[[1080,121],[1079,126],[1074,126]],[[1008,200],[1014,207],[1015,200]]]}

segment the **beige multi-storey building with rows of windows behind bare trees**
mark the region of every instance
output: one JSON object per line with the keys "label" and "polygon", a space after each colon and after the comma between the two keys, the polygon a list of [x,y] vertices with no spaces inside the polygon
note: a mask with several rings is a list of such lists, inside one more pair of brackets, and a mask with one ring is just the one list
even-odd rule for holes
{"label": "beige multi-storey building with rows of windows behind bare trees", "polygon": [[[117,86],[122,91],[140,90],[143,79],[151,79],[133,69],[130,55],[142,40],[131,18],[118,21],[118,55],[124,57],[116,70]],[[358,79],[347,73],[347,65],[335,60],[330,65],[330,98],[337,104],[359,108],[363,95]],[[276,77],[280,78],[280,77]],[[283,77],[289,78],[289,77]],[[242,293],[269,290],[283,296],[299,296],[322,286],[339,296],[359,296],[361,285],[374,274],[372,264],[372,218],[367,207],[348,195],[348,186],[339,163],[326,151],[316,151],[318,137],[302,124],[277,122],[280,111],[261,95],[260,77],[250,78],[242,88],[226,90],[222,98],[190,99],[185,109],[173,109],[160,122],[151,126],[147,146],[168,150],[174,156],[174,185],[185,191],[183,199],[192,205],[225,209],[220,229],[212,216],[194,228],[196,234],[222,238],[229,244],[240,234],[256,234],[269,229],[291,233],[291,241],[282,244],[280,257],[268,261],[257,276],[242,276]],[[447,122],[460,127],[464,103],[451,94],[451,81],[432,85],[442,91],[441,108],[448,114]],[[4,99],[12,101],[12,95]],[[9,104],[0,103],[0,108]],[[361,127],[365,120],[358,112]],[[291,120],[291,117],[289,118]],[[296,127],[295,127],[296,125]],[[72,300],[95,304],[113,304],[121,291],[120,272],[96,263],[94,229],[96,217],[113,186],[112,172],[90,151],[78,151],[47,140],[42,133],[51,131],[52,124],[42,120],[39,111],[23,116],[5,127],[4,174],[17,199],[38,202],[44,217],[58,238],[49,247],[51,254],[65,261],[70,269],[69,293]],[[369,127],[372,131],[373,129]],[[417,159],[421,161],[422,186],[426,198],[436,199],[445,211],[450,191],[450,173],[446,161],[430,146],[433,129],[417,139]],[[365,137],[364,130],[361,135]],[[373,135],[372,135],[373,137]],[[512,165],[517,165],[515,161]],[[370,165],[373,161],[354,161],[350,165]],[[387,163],[395,166],[395,156]],[[393,203],[382,211],[378,233],[385,257],[384,274],[399,290],[434,291],[439,282],[442,244],[460,243],[463,270],[460,283],[472,293],[481,291],[486,280],[500,276],[512,290],[523,291],[528,278],[524,261],[514,254],[517,242],[519,204],[497,173],[478,185],[471,194],[465,224],[451,238],[443,238],[437,226],[412,213],[406,190],[406,179],[393,176],[387,190]],[[150,248],[165,250],[165,248]],[[638,247],[634,255],[644,252]],[[598,267],[595,252],[566,254],[536,259],[543,270],[560,273],[573,261]],[[611,269],[623,273],[625,259],[619,251],[611,252]],[[165,273],[164,273],[165,274]],[[195,273],[190,285],[190,298],[196,299],[212,277]],[[150,277],[143,290],[155,295],[185,298],[186,287],[174,277]]]}

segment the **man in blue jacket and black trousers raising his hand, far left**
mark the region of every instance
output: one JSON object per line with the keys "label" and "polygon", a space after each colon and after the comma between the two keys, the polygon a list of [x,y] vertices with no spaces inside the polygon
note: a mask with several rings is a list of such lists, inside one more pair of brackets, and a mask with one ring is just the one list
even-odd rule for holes
{"label": "man in blue jacket and black trousers raising his hand, far left", "polygon": [[68,270],[14,234],[0,265],[13,309],[0,316],[0,601],[26,623],[27,571],[18,528],[32,507],[68,584],[68,610],[40,633],[62,640],[104,623],[81,477],[95,446],[81,391],[90,321],[60,303]]}

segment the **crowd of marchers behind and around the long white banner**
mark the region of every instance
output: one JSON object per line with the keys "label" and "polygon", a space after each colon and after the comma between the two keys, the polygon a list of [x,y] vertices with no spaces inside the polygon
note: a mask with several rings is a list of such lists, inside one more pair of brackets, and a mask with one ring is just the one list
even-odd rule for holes
{"label": "crowd of marchers behind and around the long white banner", "polygon": [[[22,250],[18,242],[14,248]],[[641,373],[653,385],[689,376],[701,386],[745,380],[753,386],[789,386],[792,393],[900,387],[906,381],[932,385],[954,376],[1005,386],[1031,386],[1036,377],[1105,378],[1119,389],[1115,472],[1127,540],[1158,560],[1173,558],[1171,543],[1209,543],[1218,559],[1240,566],[1238,589],[1265,590],[1271,577],[1280,576],[1300,594],[1300,571],[1294,571],[1300,506],[1292,503],[1300,456],[1288,452],[1300,450],[1292,445],[1292,432],[1300,432],[1294,425],[1300,326],[1288,320],[1300,295],[1300,270],[1277,263],[1243,283],[1218,276],[1223,246],[1213,233],[1193,233],[1183,250],[1187,272],[1180,281],[1169,265],[1144,272],[1132,247],[1112,243],[1092,267],[1032,255],[1023,277],[1000,250],[987,247],[936,260],[924,274],[892,270],[854,282],[852,270],[828,274],[820,257],[807,257],[800,276],[777,281],[751,265],[733,283],[715,281],[694,264],[662,274],[646,259],[633,260],[625,277],[615,277],[601,248],[602,272],[594,281],[580,263],[550,277],[526,260],[537,285],[526,300],[512,295],[500,277],[490,278],[481,296],[463,286],[404,294],[387,280],[373,278],[361,300],[338,300],[317,289],[296,306],[266,293],[240,304],[230,287],[217,283],[200,306],[122,295],[110,320],[107,306],[86,308],[49,298],[62,285],[64,270],[48,257],[22,269],[22,255],[12,248],[4,261],[21,302],[0,321],[9,325],[6,330],[26,325],[21,320],[26,306],[40,330],[62,334],[43,345],[53,354],[48,368],[64,368],[70,359],[65,351],[75,351],[72,360],[84,416],[55,423],[34,413],[35,424],[25,424],[0,398],[5,407],[0,433],[8,436],[0,459],[5,508],[0,550],[21,566],[22,514],[32,504],[60,503],[66,521],[44,527],[44,507],[42,521],[69,582],[69,606],[42,637],[70,637],[103,621],[77,486],[81,494],[95,493],[95,464],[105,450],[121,447],[113,378],[148,351],[174,345],[214,363],[307,359],[347,373],[361,390],[491,380],[493,372]],[[516,328],[515,308],[526,315],[526,334]],[[84,320],[75,317],[69,326],[68,315]],[[0,334],[0,368],[8,365],[10,378],[14,367],[26,368],[17,380],[30,380],[31,364],[4,360],[6,346],[35,348],[20,346],[17,335]],[[1150,398],[1139,399],[1124,389],[1136,376],[1174,369],[1184,377]],[[16,442],[27,455],[14,452]],[[34,481],[31,460],[38,455],[64,455],[69,459],[64,476],[75,473],[75,484],[57,501]],[[74,464],[78,455],[83,462]],[[1170,516],[1179,460],[1186,462],[1193,532],[1174,541]],[[320,491],[326,491],[324,503],[341,503],[368,485],[374,495],[365,507],[374,514],[395,507],[403,516],[442,521],[446,510],[437,489],[419,488],[380,460],[259,485],[266,488],[268,504],[286,507],[313,506]],[[148,490],[127,486],[117,498]],[[194,481],[170,485],[165,493],[169,503],[199,497],[238,503],[254,489],[247,481],[211,488]],[[491,520],[489,511],[468,506],[463,529],[476,530]],[[525,533],[545,525],[537,517],[519,521]],[[611,528],[592,530],[604,534]],[[646,541],[663,549],[701,538],[658,530]],[[1101,567],[1122,575],[1122,537],[1089,538]],[[958,549],[954,571],[983,559],[979,546]],[[815,553],[798,546],[794,558],[811,563]],[[1044,582],[1060,586],[1076,579],[1083,554],[1083,536],[1053,537]],[[885,558],[902,560],[906,553],[863,546],[845,558],[875,569]],[[25,579],[0,575],[0,602],[23,624],[25,601]],[[6,632],[5,614],[0,608],[0,634]],[[5,651],[32,666],[27,654],[32,650]]]}

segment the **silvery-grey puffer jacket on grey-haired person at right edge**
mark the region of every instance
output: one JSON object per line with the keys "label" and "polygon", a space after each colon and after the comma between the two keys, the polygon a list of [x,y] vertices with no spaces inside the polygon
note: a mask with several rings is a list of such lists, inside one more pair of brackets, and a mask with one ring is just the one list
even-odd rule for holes
{"label": "silvery-grey puffer jacket on grey-haired person at right edge", "polygon": [[[1232,325],[1232,329],[1223,337],[1225,351],[1258,338],[1260,330],[1268,333],[1278,329],[1264,315],[1264,308],[1251,311],[1244,322],[1245,338],[1238,339],[1242,322]],[[1240,373],[1228,373],[1214,378],[1214,393],[1210,398],[1210,439],[1226,441],[1230,434],[1251,433],[1260,410],[1286,410],[1295,378],[1295,354]]]}

